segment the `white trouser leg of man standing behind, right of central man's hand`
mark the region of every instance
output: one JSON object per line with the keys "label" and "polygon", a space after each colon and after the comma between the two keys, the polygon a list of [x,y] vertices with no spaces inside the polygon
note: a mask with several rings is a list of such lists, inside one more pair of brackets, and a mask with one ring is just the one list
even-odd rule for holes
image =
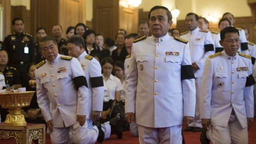
{"label": "white trouser leg of man standing behind, right of central man's hand", "polygon": [[194,121],[188,125],[188,126],[199,127],[199,128],[202,128],[201,115],[200,115],[201,81],[202,81],[202,78],[195,78],[195,83],[196,83],[196,109],[195,109],[195,117],[194,117]]}

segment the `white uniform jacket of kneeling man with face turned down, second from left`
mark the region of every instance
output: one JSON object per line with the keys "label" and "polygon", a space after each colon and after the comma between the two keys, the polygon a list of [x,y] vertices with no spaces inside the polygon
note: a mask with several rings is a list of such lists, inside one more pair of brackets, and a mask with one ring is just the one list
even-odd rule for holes
{"label": "white uniform jacket of kneeling man with face turned down, second from left", "polygon": [[103,78],[101,75],[101,64],[84,51],[78,60],[85,71],[85,78],[89,90],[89,112],[102,111],[103,109]]}

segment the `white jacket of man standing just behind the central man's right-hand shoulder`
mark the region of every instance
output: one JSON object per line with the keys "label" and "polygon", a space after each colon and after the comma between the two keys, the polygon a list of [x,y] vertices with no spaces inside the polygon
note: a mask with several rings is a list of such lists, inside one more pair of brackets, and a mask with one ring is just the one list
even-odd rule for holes
{"label": "white jacket of man standing just behind the central man's right-hand shoulder", "polygon": [[181,38],[189,41],[191,62],[196,62],[199,67],[194,75],[195,78],[201,78],[206,57],[214,53],[211,32],[200,30],[197,27],[195,30],[181,35]]}

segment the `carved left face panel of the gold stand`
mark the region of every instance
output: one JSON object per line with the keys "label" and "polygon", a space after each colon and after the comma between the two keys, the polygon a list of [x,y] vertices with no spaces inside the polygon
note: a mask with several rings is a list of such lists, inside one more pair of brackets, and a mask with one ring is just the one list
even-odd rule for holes
{"label": "carved left face panel of the gold stand", "polygon": [[8,139],[14,137],[17,144],[22,143],[22,131],[21,130],[0,130],[0,139]]}

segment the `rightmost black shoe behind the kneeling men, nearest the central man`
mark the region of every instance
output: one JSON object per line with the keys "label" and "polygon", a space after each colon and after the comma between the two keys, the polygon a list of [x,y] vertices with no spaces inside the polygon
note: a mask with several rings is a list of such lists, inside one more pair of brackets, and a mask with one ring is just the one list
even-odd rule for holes
{"label": "rightmost black shoe behind the kneeling men, nearest the central man", "polygon": [[120,122],[120,115],[117,114],[116,117],[110,119],[110,126],[111,126],[111,134],[110,135],[117,135],[118,139],[123,138],[123,133],[121,129],[121,122]]}

